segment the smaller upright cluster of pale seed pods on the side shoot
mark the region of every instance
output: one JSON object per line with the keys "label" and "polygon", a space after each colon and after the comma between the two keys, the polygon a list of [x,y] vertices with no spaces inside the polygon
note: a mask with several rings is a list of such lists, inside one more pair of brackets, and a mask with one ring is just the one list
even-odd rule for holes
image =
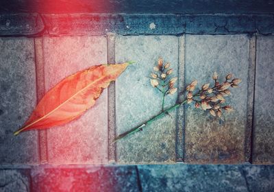
{"label": "smaller upright cluster of pale seed pods on the side shoot", "polygon": [[177,92],[177,88],[175,88],[177,77],[172,77],[173,69],[170,69],[170,67],[169,62],[164,64],[164,60],[159,58],[157,66],[153,67],[151,73],[151,86],[158,88],[164,95],[173,95]]}

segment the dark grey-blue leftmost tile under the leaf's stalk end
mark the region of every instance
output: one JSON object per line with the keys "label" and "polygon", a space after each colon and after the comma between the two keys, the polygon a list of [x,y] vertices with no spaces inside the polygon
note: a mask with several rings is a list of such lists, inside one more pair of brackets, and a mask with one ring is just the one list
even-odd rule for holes
{"label": "dark grey-blue leftmost tile under the leaf's stalk end", "polygon": [[13,135],[35,106],[34,40],[0,38],[0,164],[38,163],[37,132]]}

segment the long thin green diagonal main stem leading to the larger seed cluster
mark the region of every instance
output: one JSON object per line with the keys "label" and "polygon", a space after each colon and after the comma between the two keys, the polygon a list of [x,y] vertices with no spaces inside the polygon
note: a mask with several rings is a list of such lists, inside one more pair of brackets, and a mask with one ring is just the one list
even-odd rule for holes
{"label": "long thin green diagonal main stem leading to the larger seed cluster", "polygon": [[128,132],[125,132],[121,135],[119,135],[114,141],[113,143],[115,143],[116,141],[119,141],[120,139],[125,138],[126,136],[129,136],[131,134],[134,134],[135,132],[139,132],[141,131],[143,128],[145,128],[147,125],[150,125],[153,121],[160,119],[161,117],[163,117],[164,115],[168,114],[168,112],[170,112],[171,110],[178,108],[179,106],[181,106],[182,104],[186,103],[186,99],[184,101],[182,101],[182,103],[179,104],[175,104],[175,106],[172,106],[171,108],[168,108],[167,110],[163,110],[162,112],[160,112],[158,115],[154,116],[153,118],[149,119],[149,121],[146,121],[145,123],[142,123],[142,125],[133,128],[132,130],[129,130]]}

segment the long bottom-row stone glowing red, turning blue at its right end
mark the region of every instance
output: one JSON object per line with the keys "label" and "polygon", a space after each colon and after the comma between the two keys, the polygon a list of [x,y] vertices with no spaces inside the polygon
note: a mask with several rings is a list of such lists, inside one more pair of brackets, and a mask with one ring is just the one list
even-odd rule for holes
{"label": "long bottom-row stone glowing red, turning blue at its right end", "polygon": [[34,191],[139,191],[134,166],[38,167],[32,178]]}

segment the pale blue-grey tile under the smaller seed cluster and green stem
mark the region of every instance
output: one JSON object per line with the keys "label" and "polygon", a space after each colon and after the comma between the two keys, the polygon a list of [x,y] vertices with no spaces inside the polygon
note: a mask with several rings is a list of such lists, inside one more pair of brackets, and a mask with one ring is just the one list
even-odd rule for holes
{"label": "pale blue-grey tile under the smaller seed cluster and green stem", "polygon": [[[116,80],[116,135],[158,115],[162,93],[153,88],[149,75],[158,57],[170,62],[177,75],[178,38],[175,36],[117,36],[116,62],[134,60]],[[166,98],[166,108],[177,95]],[[127,139],[118,141],[117,163],[173,163],[175,160],[175,111]]]}

